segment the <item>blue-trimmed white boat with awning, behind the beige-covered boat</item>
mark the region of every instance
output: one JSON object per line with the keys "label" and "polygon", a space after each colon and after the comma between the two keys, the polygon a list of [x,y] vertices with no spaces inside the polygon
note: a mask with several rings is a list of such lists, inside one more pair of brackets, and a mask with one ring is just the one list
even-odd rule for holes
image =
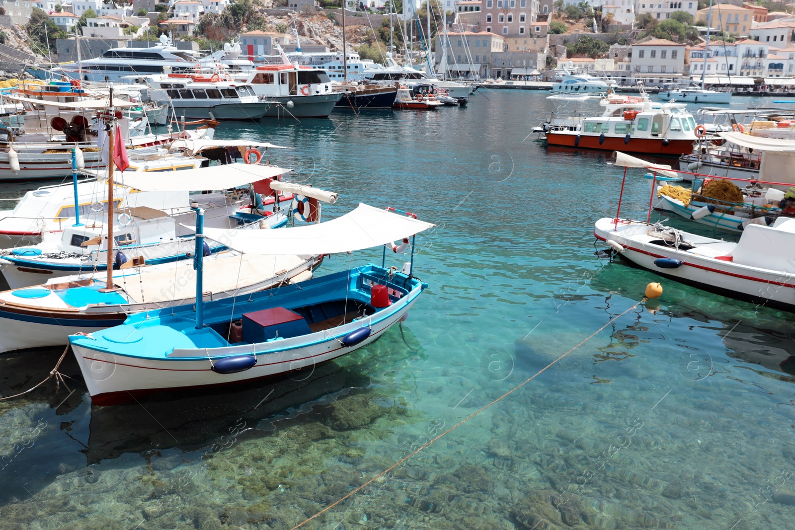
{"label": "blue-trimmed white boat with awning, behind the beige-covered boat", "polygon": [[[223,169],[221,169],[223,167]],[[132,204],[117,208],[114,204],[113,223],[114,268],[123,267],[133,257],[150,265],[169,261],[179,261],[190,257],[192,230],[180,225],[188,216],[192,218],[189,207],[189,191],[229,190],[238,186],[275,179],[289,169],[261,164],[227,164],[211,168],[186,168],[164,178],[160,172],[117,172],[114,182],[118,187],[130,190],[158,192],[163,196],[181,194],[182,207],[171,211],[161,211],[152,207],[134,206],[137,193],[128,193]],[[210,212],[211,226],[219,228],[270,229],[285,226],[293,195],[279,193],[278,197],[266,197],[266,205],[256,193],[258,208],[244,208],[249,205],[244,191],[216,191],[195,197]],[[173,201],[172,201],[173,203]],[[245,203],[245,204],[244,204]],[[95,208],[72,226],[64,226],[43,234],[42,242],[35,246],[15,247],[0,251],[0,272],[6,277],[11,288],[23,288],[41,284],[48,277],[70,276],[95,270],[107,270],[107,214],[105,204],[95,202]],[[267,209],[270,208],[270,209]],[[223,246],[210,246],[210,252],[223,250]]]}

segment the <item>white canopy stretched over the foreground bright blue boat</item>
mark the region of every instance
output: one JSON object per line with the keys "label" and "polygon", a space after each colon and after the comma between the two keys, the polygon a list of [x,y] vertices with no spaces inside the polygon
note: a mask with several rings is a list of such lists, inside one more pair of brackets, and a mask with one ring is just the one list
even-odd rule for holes
{"label": "white canopy stretched over the foreground bright blue boat", "polygon": [[436,226],[367,204],[331,221],[278,230],[205,228],[204,235],[242,253],[313,255],[353,252],[409,238]]}

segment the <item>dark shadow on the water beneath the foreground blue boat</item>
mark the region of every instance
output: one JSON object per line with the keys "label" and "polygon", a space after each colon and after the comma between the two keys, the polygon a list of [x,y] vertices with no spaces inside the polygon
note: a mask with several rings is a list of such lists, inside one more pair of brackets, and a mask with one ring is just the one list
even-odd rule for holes
{"label": "dark shadow on the water beneath the foreground blue boat", "polygon": [[[62,352],[58,347],[3,355],[0,393],[9,396],[33,387],[47,376]],[[173,449],[217,452],[228,447],[223,445],[225,437],[237,443],[269,435],[285,427],[285,421],[293,424],[313,411],[322,415],[324,405],[351,389],[370,385],[370,377],[358,366],[328,362],[288,377],[93,407],[71,353],[64,358],[60,372],[67,376],[71,393],[63,385],[56,390],[51,380],[7,402],[9,408],[0,408],[6,420],[10,420],[9,414],[22,413],[17,416],[21,427],[6,440],[12,451],[15,442],[20,451],[6,458],[0,469],[0,505],[28,498],[72,470],[78,470],[80,480],[90,482],[100,473],[95,464],[126,454],[152,458]],[[37,420],[46,427],[25,443],[29,439],[25,435],[33,429],[30,425],[35,426]],[[219,443],[222,445],[215,447]],[[41,458],[42,451],[47,458]],[[128,466],[130,462],[121,459],[111,466]]]}

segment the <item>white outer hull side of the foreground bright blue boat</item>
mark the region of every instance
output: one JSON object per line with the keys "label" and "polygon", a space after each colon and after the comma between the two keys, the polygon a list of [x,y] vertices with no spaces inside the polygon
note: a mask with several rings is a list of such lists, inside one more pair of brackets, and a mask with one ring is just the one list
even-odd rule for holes
{"label": "white outer hull side of the foreground bright blue boat", "polygon": [[[359,320],[337,327],[334,335],[320,331],[312,335],[302,335],[292,339],[242,346],[227,346],[210,350],[174,350],[173,358],[149,359],[131,358],[107,351],[91,350],[82,344],[72,342],[88,392],[95,404],[103,404],[118,393],[147,393],[169,389],[191,389],[215,385],[228,385],[273,377],[282,373],[306,369],[321,362],[332,361],[378,339],[394,323],[397,323],[417,299],[412,300],[382,320],[371,323],[373,332],[366,340],[355,346],[343,347],[335,336],[342,337],[362,327],[368,320]],[[409,295],[410,296],[410,295]],[[378,315],[378,313],[376,314]],[[301,346],[301,343],[309,342]],[[229,356],[251,354],[256,350],[257,364],[243,372],[221,374],[211,370],[207,356]]]}

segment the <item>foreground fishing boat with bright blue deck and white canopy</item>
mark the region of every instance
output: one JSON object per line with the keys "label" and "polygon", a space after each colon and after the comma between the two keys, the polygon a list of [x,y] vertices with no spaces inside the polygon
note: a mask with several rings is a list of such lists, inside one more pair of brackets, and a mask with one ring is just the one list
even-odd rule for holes
{"label": "foreground fishing boat with bright blue deck and white canopy", "polygon": [[365,204],[329,222],[282,230],[204,230],[203,215],[197,208],[195,306],[131,315],[122,326],[69,337],[94,404],[231,385],[332,361],[378,339],[428,286],[413,277],[412,241],[403,273],[386,267],[385,246],[380,267],[365,265],[246,300],[203,302],[205,236],[244,253],[325,254],[381,245],[405,249],[408,243],[392,242],[434,226]]}

